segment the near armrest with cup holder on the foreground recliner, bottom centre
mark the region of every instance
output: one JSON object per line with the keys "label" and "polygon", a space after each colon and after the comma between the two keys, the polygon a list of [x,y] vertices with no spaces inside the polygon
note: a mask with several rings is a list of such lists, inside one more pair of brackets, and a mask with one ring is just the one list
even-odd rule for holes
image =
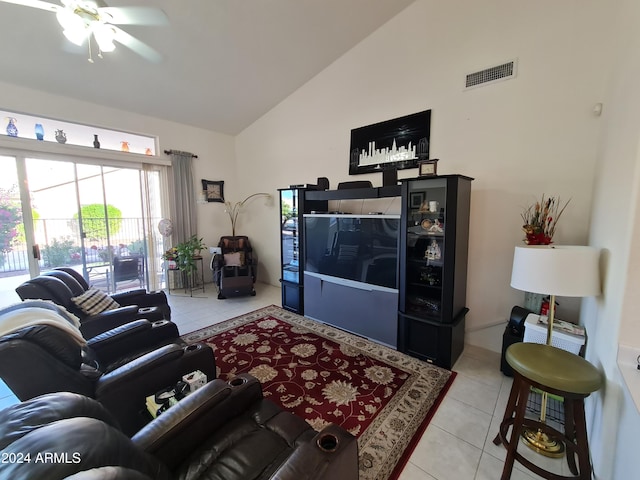
{"label": "near armrest with cup holder on the foreground recliner, bottom centre", "polygon": [[301,442],[273,479],[358,480],[358,442],[343,428],[331,424]]}

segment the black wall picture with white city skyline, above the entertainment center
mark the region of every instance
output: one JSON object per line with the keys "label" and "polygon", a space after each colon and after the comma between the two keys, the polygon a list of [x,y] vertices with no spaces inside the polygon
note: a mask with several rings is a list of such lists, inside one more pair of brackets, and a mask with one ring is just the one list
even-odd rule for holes
{"label": "black wall picture with white city skyline, above the entertainment center", "polygon": [[349,175],[417,168],[429,159],[431,110],[351,130]]}

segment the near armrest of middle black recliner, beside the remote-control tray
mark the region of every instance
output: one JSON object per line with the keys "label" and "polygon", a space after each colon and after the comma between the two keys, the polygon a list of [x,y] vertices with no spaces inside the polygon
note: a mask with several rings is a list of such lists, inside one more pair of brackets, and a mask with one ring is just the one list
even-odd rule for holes
{"label": "near armrest of middle black recliner, beside the remote-control tray", "polygon": [[215,378],[215,357],[211,347],[196,344],[166,345],[117,368],[98,379],[95,398],[132,435],[149,421],[146,397],[175,385],[183,375],[202,371]]}

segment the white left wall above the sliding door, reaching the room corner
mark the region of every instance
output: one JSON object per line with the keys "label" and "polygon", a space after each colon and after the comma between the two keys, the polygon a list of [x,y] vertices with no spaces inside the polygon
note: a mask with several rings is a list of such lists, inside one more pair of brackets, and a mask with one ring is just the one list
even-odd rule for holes
{"label": "white left wall above the sliding door, reaching the room corner", "polygon": [[[237,188],[233,137],[152,117],[50,95],[0,82],[0,108],[44,117],[102,126],[109,129],[159,137],[158,154],[164,150],[184,150],[198,155],[193,161],[195,188],[200,180],[224,180],[225,191]],[[161,101],[161,100],[159,100]],[[26,126],[25,126],[26,128]],[[198,204],[198,235],[207,245],[217,245],[221,235],[231,232],[231,224],[220,203]],[[208,280],[208,278],[207,278]]]}

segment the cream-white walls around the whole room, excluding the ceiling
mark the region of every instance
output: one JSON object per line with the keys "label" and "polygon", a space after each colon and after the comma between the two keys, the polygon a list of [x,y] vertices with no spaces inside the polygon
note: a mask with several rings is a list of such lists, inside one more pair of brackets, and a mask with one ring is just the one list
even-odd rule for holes
{"label": "cream-white walls around the whole room, excluding the ceiling", "polygon": [[[588,403],[591,451],[597,478],[635,478],[640,416],[615,359],[619,338],[640,346],[638,24],[634,0],[418,0],[235,140],[2,83],[0,107],[159,135],[161,150],[198,154],[195,180],[225,180],[233,202],[319,176],[333,187],[360,178],[379,185],[377,176],[348,176],[350,130],[431,108],[439,171],[476,178],[468,341],[499,350],[502,329],[482,328],[506,320],[522,299],[509,287],[521,206],[543,192],[572,198],[557,243],[603,249],[604,293],[583,302],[581,315],[588,359],[607,377]],[[465,74],[513,58],[516,79],[462,91]],[[592,114],[597,102],[602,117]],[[230,232],[222,205],[199,205],[198,215],[208,244]],[[256,245],[260,279],[274,285],[278,218],[276,201],[258,199],[238,228]]]}

